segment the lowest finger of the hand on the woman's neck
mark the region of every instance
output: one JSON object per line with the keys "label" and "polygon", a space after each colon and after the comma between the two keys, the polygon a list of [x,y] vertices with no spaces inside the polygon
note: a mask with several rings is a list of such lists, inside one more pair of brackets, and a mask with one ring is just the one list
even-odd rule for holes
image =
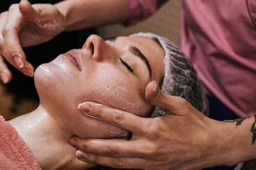
{"label": "lowest finger of the hand on the woman's neck", "polygon": [[139,157],[104,157],[97,154],[85,154],[80,150],[75,155],[84,162],[92,162],[117,169],[145,169],[145,165],[149,166],[145,159]]}

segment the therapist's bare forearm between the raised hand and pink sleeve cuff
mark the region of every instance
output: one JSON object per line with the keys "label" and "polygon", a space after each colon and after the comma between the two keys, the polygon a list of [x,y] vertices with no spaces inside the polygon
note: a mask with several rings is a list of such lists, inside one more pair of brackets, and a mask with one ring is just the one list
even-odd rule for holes
{"label": "therapist's bare forearm between the raised hand and pink sleeve cuff", "polygon": [[65,16],[64,30],[79,30],[129,19],[126,0],[66,0],[55,4]]}

